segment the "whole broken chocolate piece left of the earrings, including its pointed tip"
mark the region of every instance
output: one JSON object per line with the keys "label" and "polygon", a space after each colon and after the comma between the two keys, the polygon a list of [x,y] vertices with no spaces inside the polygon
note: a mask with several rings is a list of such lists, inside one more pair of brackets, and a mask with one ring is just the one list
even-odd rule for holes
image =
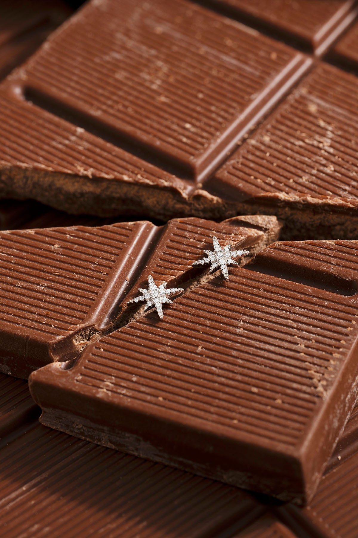
{"label": "whole broken chocolate piece left of the earrings, including its pointed tip", "polygon": [[[227,223],[178,219],[164,227],[138,221],[0,232],[0,371],[27,378],[49,362],[75,358],[113,330],[122,300],[151,255],[148,269],[160,281],[190,280],[198,274],[192,275],[191,264],[209,237],[252,246],[254,253],[279,231],[275,217],[253,216]],[[160,263],[166,277],[155,272]]]}

